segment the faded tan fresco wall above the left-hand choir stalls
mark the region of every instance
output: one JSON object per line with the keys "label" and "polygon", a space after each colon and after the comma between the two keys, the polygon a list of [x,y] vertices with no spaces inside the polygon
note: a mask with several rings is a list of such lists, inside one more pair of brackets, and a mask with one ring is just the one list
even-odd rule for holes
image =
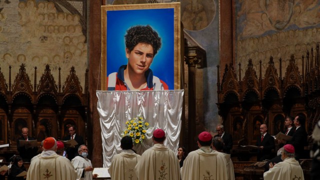
{"label": "faded tan fresco wall above the left-hand choir stalls", "polygon": [[19,65],[25,63],[33,83],[34,67],[39,79],[45,64],[49,64],[56,80],[61,67],[63,83],[73,65],[84,85],[87,45],[77,14],[59,6],[65,11],[61,12],[52,1],[43,0],[1,0],[0,7],[0,67],[5,78],[9,65],[15,77]]}

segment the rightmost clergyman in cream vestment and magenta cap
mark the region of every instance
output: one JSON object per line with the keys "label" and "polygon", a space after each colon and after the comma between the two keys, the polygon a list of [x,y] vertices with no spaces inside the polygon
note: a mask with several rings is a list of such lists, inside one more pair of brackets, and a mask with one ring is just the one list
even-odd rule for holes
{"label": "rightmost clergyman in cream vestment and magenta cap", "polygon": [[281,159],[283,161],[276,163],[274,166],[272,162],[269,163],[269,170],[263,173],[264,180],[304,180],[302,168],[294,158],[293,145],[286,144],[283,146]]}

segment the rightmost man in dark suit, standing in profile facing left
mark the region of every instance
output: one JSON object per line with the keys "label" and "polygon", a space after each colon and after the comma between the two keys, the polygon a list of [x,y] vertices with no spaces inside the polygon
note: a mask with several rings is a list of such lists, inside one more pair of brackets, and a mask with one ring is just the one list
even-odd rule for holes
{"label": "rightmost man in dark suit, standing in profile facing left", "polygon": [[291,140],[287,143],[294,146],[295,159],[299,160],[301,157],[304,157],[304,146],[307,145],[307,133],[304,128],[305,119],[303,116],[297,115],[295,116],[293,123],[295,126],[295,131],[292,135]]}

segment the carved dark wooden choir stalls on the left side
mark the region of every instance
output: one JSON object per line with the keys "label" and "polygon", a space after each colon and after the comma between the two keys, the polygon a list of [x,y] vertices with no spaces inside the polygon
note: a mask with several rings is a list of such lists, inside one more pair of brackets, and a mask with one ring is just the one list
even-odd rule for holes
{"label": "carved dark wooden choir stalls on the left side", "polygon": [[68,133],[69,124],[76,125],[76,133],[87,139],[88,69],[83,72],[84,91],[73,66],[62,88],[61,68],[58,70],[58,84],[48,64],[37,82],[37,67],[34,67],[32,85],[25,64],[20,65],[12,84],[11,66],[7,79],[0,69],[0,144],[9,143],[9,147],[0,149],[2,159],[8,160],[12,154],[18,154],[16,139],[22,127],[28,127],[29,136],[35,137],[38,143],[46,136],[61,139]]}

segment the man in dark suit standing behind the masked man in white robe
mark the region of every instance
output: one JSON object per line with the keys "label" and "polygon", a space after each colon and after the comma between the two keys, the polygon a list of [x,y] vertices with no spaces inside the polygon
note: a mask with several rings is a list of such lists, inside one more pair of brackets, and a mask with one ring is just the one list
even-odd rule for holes
{"label": "man in dark suit standing behind the masked man in white robe", "polygon": [[75,134],[75,130],[76,129],[75,129],[74,125],[70,125],[68,130],[69,130],[69,135],[63,137],[62,140],[70,140],[70,139],[73,138],[78,143],[74,147],[67,147],[66,148],[67,157],[68,157],[69,160],[72,160],[72,158],[74,158],[75,154],[77,154],[77,152],[78,152],[78,147],[80,145],[83,145],[84,141],[83,141],[83,137],[82,136]]}

